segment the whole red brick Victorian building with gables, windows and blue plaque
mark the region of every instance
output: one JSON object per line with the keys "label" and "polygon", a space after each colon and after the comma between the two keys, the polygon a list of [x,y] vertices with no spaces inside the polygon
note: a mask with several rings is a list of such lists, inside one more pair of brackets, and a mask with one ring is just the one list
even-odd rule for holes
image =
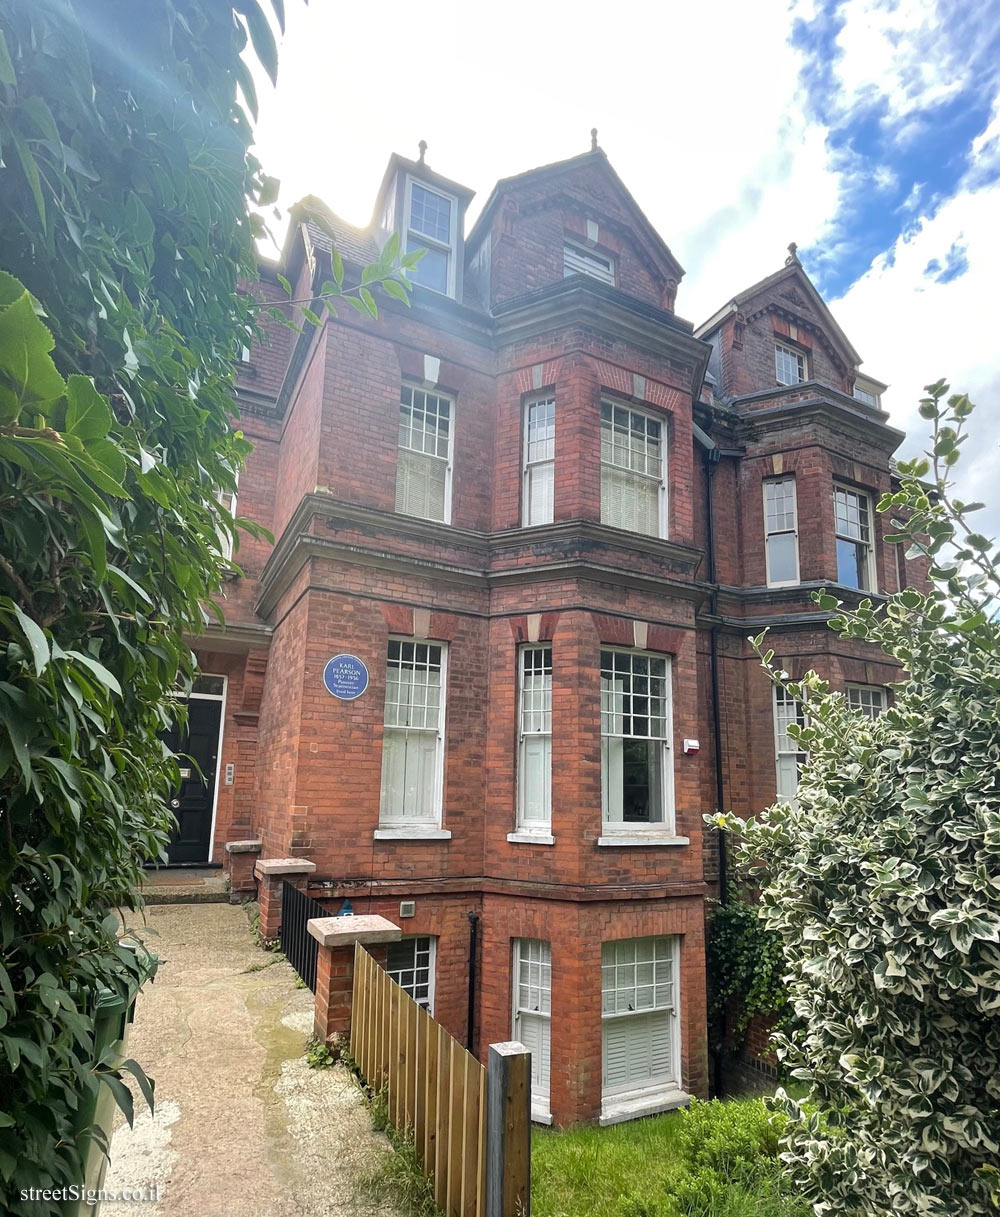
{"label": "whole red brick Victorian building with gables, windows and blue plaque", "polygon": [[292,226],[294,298],[331,234],[348,279],[391,232],[429,252],[411,307],[246,353],[238,514],[275,543],[198,644],[218,789],[174,853],[311,860],[332,910],[403,918],[391,969],[454,1034],[533,1048],[538,1118],[611,1122],[707,1089],[703,814],[794,796],[747,635],[871,712],[894,678],[809,596],[906,578],[901,436],[794,251],[695,330],[600,150],[466,234],[470,198],[394,156],[369,229]]}

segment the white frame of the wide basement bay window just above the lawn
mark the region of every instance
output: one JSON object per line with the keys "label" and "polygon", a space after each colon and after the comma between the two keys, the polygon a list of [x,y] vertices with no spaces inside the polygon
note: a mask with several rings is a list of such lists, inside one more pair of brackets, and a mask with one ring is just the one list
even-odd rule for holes
{"label": "white frame of the wide basement bay window just above the lawn", "polygon": [[[652,954],[651,961],[634,961],[642,948],[650,944]],[[625,958],[631,948],[633,961]],[[657,953],[661,952],[661,958]],[[645,952],[644,952],[645,953]],[[657,964],[668,963],[669,971],[661,972],[661,977],[669,975],[669,980],[657,982]],[[640,971],[644,969],[644,971]],[[609,974],[613,972],[614,985],[608,986]],[[628,980],[631,972],[633,983],[618,987],[619,975]],[[640,976],[642,980],[640,981]],[[658,989],[669,991],[658,993]],[[629,1003],[628,994],[631,991],[634,1009],[622,1009]],[[648,998],[650,1004],[640,1004],[640,992],[642,999]],[[629,1082],[609,1086],[607,1081],[607,1033],[613,1023],[624,1020],[650,1020],[657,1013],[663,1013],[668,1019],[670,1070],[658,1078],[647,1079],[640,1084]],[[602,1123],[613,1122],[614,1117],[627,1118],[628,1115],[639,1115],[641,1111],[663,1110],[665,1106],[675,1105],[682,1100],[681,1092],[681,1037],[680,1037],[680,1013],[681,1013],[681,988],[680,988],[680,937],[678,935],[656,935],[640,938],[617,938],[601,943],[601,1112],[605,1118]],[[661,1100],[657,1106],[655,1100]],[[653,1100],[651,1104],[642,1104],[642,1100]],[[642,1104],[640,1110],[635,1110],[636,1104]],[[633,1110],[629,1110],[629,1109]],[[608,1118],[609,1117],[609,1118]]]}

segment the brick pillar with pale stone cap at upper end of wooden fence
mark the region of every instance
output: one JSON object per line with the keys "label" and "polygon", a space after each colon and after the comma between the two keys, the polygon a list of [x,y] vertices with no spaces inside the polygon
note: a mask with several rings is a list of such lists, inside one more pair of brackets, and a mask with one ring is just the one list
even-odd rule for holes
{"label": "brick pillar with pale stone cap at upper end of wooden fence", "polygon": [[339,1047],[350,1039],[354,997],[354,944],[360,942],[382,968],[389,942],[401,937],[398,925],[383,916],[318,916],[307,922],[319,943],[313,1033]]}

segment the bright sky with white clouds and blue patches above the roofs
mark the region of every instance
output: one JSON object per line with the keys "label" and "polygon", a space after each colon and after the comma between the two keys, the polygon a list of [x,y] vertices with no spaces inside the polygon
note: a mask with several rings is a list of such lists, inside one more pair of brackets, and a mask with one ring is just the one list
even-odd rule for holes
{"label": "bright sky with white clouds and blue patches above the roofs", "polygon": [[[364,224],[386,159],[477,191],[585,151],[591,127],[686,268],[704,320],[790,241],[892,421],[922,386],[979,403],[966,498],[1000,529],[1000,0],[618,0],[502,11],[287,0],[258,152],[281,202]],[[970,445],[972,447],[972,444]]]}

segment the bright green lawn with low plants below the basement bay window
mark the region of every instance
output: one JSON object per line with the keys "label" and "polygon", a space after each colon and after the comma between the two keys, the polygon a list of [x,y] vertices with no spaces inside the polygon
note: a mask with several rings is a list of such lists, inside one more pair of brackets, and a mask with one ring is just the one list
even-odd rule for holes
{"label": "bright green lawn with low plants below the basement bay window", "polygon": [[759,1099],[532,1139],[533,1217],[809,1217]]}

